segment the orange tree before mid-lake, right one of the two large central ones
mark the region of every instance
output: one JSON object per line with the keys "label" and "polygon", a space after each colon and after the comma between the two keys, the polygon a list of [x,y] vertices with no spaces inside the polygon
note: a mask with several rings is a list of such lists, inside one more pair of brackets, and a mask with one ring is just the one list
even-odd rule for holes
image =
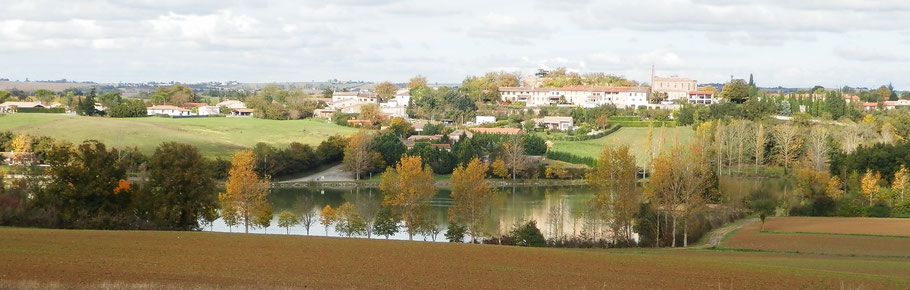
{"label": "orange tree before mid-lake, right one of the two large central ones", "polygon": [[458,166],[452,173],[452,207],[449,208],[449,220],[452,223],[463,223],[471,241],[477,236],[486,222],[493,190],[484,177],[487,166],[474,158],[467,166]]}

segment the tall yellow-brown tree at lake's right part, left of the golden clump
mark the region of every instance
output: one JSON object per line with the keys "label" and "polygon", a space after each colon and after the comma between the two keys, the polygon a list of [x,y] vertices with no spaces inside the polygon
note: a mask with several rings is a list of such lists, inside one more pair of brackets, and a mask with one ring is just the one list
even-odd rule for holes
{"label": "tall yellow-brown tree at lake's right part, left of the golden clump", "polygon": [[586,176],[588,184],[597,191],[594,194],[596,208],[610,223],[614,242],[634,242],[633,222],[641,204],[641,195],[635,187],[638,179],[635,157],[626,146],[605,147],[600,153],[597,167]]}

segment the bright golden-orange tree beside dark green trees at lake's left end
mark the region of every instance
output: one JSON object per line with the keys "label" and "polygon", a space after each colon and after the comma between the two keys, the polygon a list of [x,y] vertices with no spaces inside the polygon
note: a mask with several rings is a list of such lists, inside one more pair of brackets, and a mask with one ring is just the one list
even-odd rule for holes
{"label": "bright golden-orange tree beside dark green trees at lake's left end", "polygon": [[272,206],[268,202],[269,182],[259,178],[255,169],[253,151],[235,153],[231,160],[228,181],[224,186],[225,192],[218,194],[222,212],[236,214],[238,220],[243,222],[246,233],[250,232],[250,225],[261,224],[259,222],[266,212],[271,220]]}

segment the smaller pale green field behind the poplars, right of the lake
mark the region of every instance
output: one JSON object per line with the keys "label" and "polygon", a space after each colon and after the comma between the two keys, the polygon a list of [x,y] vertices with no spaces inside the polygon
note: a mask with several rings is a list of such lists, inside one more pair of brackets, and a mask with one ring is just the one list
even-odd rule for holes
{"label": "smaller pale green field behind the poplars, right of the lake", "polygon": [[[653,130],[655,140],[661,135],[661,131],[664,131],[664,149],[669,149],[675,144],[689,144],[695,136],[695,131],[690,127],[654,128]],[[597,158],[606,145],[626,145],[629,146],[629,150],[641,165],[646,152],[645,139],[647,137],[648,128],[621,128],[616,133],[592,140],[554,141],[553,150]]]}

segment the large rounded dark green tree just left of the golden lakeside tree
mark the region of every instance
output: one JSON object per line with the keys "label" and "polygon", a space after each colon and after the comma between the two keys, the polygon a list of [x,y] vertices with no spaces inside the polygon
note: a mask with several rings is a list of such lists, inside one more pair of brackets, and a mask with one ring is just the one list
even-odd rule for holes
{"label": "large rounded dark green tree just left of the golden lakeside tree", "polygon": [[218,206],[208,162],[191,145],[168,142],[149,159],[149,188],[157,195],[157,218],[173,229],[197,229]]}

